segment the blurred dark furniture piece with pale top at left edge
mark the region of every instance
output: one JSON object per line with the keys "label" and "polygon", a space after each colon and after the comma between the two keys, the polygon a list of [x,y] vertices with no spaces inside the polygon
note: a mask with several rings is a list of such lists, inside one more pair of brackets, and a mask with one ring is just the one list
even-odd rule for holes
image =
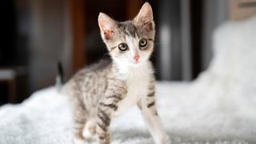
{"label": "blurred dark furniture piece with pale top at left edge", "polygon": [[12,68],[0,69],[0,82],[6,82],[8,86],[8,102],[16,103],[16,72]]}

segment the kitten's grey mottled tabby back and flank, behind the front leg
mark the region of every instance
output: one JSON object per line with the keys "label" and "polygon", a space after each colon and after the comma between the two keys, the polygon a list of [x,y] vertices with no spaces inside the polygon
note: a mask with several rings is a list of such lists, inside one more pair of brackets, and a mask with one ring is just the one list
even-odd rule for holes
{"label": "kitten's grey mottled tabby back and flank, behind the front leg", "polygon": [[[106,81],[112,66],[111,59],[103,59],[98,63],[86,66],[66,83],[66,94],[71,100],[79,101],[89,110],[97,105],[106,91]],[[84,103],[82,103],[84,102]]]}

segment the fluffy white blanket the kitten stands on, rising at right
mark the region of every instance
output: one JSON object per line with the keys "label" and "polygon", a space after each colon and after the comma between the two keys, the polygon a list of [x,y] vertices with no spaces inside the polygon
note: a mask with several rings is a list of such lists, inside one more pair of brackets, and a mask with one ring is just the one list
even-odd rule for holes
{"label": "fluffy white blanket the kitten stands on, rising at right", "polygon": [[[256,17],[214,32],[214,58],[194,82],[157,82],[168,142],[256,143]],[[54,87],[0,107],[0,143],[72,143],[69,99]],[[113,144],[154,143],[137,106],[114,118]],[[96,142],[91,142],[96,143]]]}

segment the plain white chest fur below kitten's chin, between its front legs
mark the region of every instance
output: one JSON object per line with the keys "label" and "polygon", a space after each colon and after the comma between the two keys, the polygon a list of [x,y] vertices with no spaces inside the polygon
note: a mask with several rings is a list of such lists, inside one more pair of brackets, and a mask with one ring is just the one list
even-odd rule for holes
{"label": "plain white chest fur below kitten's chin, between its front legs", "polygon": [[123,68],[121,73],[126,81],[127,95],[118,103],[118,110],[115,111],[114,116],[123,114],[131,106],[137,104],[139,98],[146,96],[153,70],[150,62],[145,62],[142,66],[127,66],[126,69]]}

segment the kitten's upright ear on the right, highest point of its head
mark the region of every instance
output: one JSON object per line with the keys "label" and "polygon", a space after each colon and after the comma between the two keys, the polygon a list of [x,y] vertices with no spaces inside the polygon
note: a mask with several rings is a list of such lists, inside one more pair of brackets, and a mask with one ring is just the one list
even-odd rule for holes
{"label": "kitten's upright ear on the right, highest point of its head", "polygon": [[137,26],[144,26],[148,30],[154,30],[153,11],[148,2],[144,3],[142,9],[134,18],[134,24]]}

